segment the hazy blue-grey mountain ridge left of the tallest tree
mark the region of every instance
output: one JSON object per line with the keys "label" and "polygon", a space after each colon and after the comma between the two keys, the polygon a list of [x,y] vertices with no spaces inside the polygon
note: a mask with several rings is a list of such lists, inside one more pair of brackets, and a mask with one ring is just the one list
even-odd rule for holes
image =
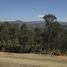
{"label": "hazy blue-grey mountain ridge left of the tallest tree", "polygon": [[26,24],[28,27],[44,27],[45,23],[44,21],[20,21],[20,20],[16,20],[16,21],[9,21],[10,24]]}

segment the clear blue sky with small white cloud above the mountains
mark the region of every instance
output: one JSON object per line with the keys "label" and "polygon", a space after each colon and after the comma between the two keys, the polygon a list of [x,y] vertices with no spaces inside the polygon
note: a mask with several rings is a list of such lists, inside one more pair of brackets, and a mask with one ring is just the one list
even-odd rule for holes
{"label": "clear blue sky with small white cloud above the mountains", "polygon": [[66,22],[67,0],[0,0],[0,21],[40,21],[46,14]]}

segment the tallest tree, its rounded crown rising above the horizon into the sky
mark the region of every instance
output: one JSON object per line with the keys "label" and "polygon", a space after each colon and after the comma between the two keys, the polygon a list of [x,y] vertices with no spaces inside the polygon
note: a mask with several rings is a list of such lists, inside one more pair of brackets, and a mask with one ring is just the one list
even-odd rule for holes
{"label": "tallest tree, its rounded crown rising above the horizon into the sky", "polygon": [[[48,51],[50,50],[50,40],[51,40],[51,35],[52,35],[52,30],[51,30],[51,26],[52,26],[52,23],[53,22],[56,22],[57,18],[55,15],[53,14],[47,14],[43,17],[43,19],[45,20],[45,23],[46,23],[46,33],[47,33],[47,48],[48,48]],[[47,51],[47,52],[48,52]]]}

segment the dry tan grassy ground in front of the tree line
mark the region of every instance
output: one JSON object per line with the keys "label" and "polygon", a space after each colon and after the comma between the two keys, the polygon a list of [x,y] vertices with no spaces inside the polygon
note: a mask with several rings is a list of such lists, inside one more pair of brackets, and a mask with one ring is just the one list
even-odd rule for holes
{"label": "dry tan grassy ground in front of the tree line", "polygon": [[67,57],[0,52],[0,67],[67,67]]}

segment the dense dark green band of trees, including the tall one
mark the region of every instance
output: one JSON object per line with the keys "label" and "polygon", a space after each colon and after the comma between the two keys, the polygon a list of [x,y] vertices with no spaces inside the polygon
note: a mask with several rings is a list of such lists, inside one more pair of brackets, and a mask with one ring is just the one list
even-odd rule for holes
{"label": "dense dark green band of trees, including the tall one", "polygon": [[16,53],[66,53],[67,29],[57,18],[48,14],[43,17],[44,28],[29,28],[25,24],[0,23],[0,51]]}

